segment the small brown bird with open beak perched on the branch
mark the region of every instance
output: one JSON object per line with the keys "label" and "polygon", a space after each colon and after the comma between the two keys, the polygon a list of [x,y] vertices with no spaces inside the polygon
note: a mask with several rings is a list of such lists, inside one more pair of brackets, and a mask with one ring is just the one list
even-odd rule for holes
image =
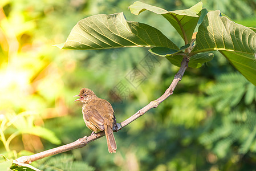
{"label": "small brown bird with open beak perched on the branch", "polygon": [[[75,97],[75,96],[74,96]],[[82,101],[82,113],[87,128],[94,132],[104,131],[107,138],[108,152],[116,152],[116,140],[113,135],[113,126],[116,126],[116,117],[111,104],[104,99],[100,99],[91,89],[82,88],[80,97],[75,101]]]}

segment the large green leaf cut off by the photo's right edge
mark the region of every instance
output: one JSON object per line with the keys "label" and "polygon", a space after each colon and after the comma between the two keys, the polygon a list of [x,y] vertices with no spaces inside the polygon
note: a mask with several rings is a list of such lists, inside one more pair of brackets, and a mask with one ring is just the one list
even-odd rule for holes
{"label": "large green leaf cut off by the photo's right edge", "polygon": [[209,12],[198,28],[192,53],[220,51],[239,72],[256,86],[256,33],[238,25],[220,11]]}

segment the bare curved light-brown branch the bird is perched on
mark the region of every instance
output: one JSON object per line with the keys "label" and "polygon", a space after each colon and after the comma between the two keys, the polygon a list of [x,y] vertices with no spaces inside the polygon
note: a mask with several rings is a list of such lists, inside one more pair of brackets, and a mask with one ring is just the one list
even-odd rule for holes
{"label": "bare curved light-brown branch the bird is perched on", "polygon": [[[144,108],[140,109],[138,112],[136,112],[134,115],[129,117],[127,120],[124,120],[120,124],[117,124],[116,128],[113,128],[115,132],[120,131],[123,127],[131,123],[132,121],[136,120],[138,117],[144,115],[149,109],[156,108],[162,101],[164,101],[167,97],[173,94],[174,88],[177,86],[178,82],[182,79],[182,76],[184,75],[184,72],[186,68],[188,68],[188,62],[189,58],[188,56],[185,56],[181,62],[180,70],[178,70],[177,74],[174,76],[174,79],[172,81],[172,84],[170,84],[169,88],[166,89],[165,93],[159,97],[158,99],[151,101],[148,105],[146,105]],[[78,139],[74,141],[73,143],[62,145],[53,149],[46,150],[44,152],[32,154],[30,156],[22,156],[15,160],[15,162],[19,163],[25,163],[25,164],[31,164],[31,162],[42,159],[44,157],[52,156],[54,154],[59,154],[63,152],[67,152],[72,149],[82,148],[83,146],[86,146],[88,143],[91,143],[91,141],[95,141],[96,139],[99,139],[100,137],[105,136],[104,131],[95,133],[94,135],[91,135],[89,137],[85,136],[81,139]]]}

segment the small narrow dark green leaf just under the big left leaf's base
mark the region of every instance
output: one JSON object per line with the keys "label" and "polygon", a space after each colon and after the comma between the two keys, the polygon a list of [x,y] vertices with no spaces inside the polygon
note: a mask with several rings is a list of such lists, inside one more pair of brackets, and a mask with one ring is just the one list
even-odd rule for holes
{"label": "small narrow dark green leaf just under the big left leaf's base", "polygon": [[181,52],[182,50],[185,50],[189,46],[190,46],[190,44],[186,44],[186,45],[182,46],[180,48],[180,50],[170,49],[168,47],[153,47],[153,48],[151,48],[149,50],[149,52],[151,52],[154,55],[159,55],[159,56],[162,56],[162,57],[167,57],[167,56],[170,56],[170,55],[177,54],[178,52]]}

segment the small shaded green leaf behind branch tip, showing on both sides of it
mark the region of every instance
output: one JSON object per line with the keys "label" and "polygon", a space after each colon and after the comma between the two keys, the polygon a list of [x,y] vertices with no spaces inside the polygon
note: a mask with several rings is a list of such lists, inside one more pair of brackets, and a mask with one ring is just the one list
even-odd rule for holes
{"label": "small shaded green leaf behind branch tip, showing on both sides of it", "polygon": [[[170,61],[170,63],[174,64],[175,66],[180,67],[183,56],[175,55],[172,57],[168,56],[166,58]],[[190,57],[189,67],[190,68],[200,68],[203,63],[209,62],[212,59],[213,59],[212,53],[202,53],[202,54],[193,55]]]}

